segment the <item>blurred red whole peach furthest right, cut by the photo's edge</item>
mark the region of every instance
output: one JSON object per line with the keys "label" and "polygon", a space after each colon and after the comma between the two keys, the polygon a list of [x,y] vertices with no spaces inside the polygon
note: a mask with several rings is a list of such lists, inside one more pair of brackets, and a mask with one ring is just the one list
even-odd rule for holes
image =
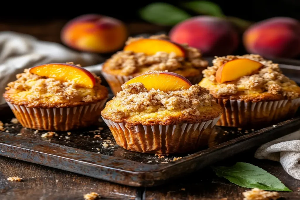
{"label": "blurred red whole peach furthest right, cut by the photo's edge", "polygon": [[248,52],[266,58],[292,58],[300,53],[300,22],[274,17],[250,26],[243,35]]}

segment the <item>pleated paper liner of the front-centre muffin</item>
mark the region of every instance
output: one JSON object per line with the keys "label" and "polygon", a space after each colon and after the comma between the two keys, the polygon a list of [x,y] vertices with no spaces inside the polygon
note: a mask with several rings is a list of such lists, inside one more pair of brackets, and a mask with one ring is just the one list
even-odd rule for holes
{"label": "pleated paper liner of the front-centre muffin", "polygon": [[[102,117],[103,118],[103,117]],[[194,151],[208,144],[212,127],[218,118],[198,124],[128,126],[107,119],[117,144],[129,151],[152,154],[171,154]]]}

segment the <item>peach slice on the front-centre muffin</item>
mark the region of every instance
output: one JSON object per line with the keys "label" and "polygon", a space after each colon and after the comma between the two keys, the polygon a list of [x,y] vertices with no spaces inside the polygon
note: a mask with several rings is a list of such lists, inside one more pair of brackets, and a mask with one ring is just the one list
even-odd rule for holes
{"label": "peach slice on the front-centre muffin", "polygon": [[173,72],[146,73],[136,76],[125,84],[143,83],[147,90],[154,88],[160,91],[176,91],[190,88],[192,85],[189,80]]}

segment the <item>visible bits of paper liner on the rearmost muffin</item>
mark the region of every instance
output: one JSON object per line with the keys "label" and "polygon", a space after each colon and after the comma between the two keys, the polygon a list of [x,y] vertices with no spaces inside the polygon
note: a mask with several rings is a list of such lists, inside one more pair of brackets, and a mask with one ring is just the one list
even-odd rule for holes
{"label": "visible bits of paper liner on the rearmost muffin", "polygon": [[[116,96],[116,94],[122,90],[121,86],[129,81],[130,79],[133,79],[134,76],[117,76],[117,75],[111,75],[108,73],[105,73],[102,71],[102,75],[106,79],[107,83],[110,85],[110,88],[113,91],[113,94]],[[199,76],[194,77],[187,77],[187,79],[193,84],[198,84],[202,79],[202,74]]]}

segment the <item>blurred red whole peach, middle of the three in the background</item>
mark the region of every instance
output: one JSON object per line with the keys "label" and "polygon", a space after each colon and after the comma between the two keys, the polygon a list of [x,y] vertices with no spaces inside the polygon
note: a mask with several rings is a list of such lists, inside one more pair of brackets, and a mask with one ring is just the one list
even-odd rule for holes
{"label": "blurred red whole peach, middle of the three in the background", "polygon": [[212,16],[196,16],[177,24],[170,31],[170,38],[211,56],[231,54],[238,46],[238,33],[232,24]]}

